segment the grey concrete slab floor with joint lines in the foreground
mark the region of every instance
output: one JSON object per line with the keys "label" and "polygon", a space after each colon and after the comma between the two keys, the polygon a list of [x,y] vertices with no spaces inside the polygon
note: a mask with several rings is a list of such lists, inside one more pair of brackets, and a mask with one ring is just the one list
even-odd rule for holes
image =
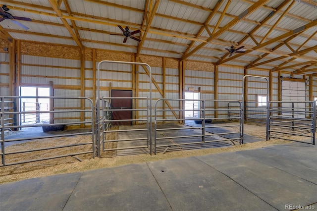
{"label": "grey concrete slab floor with joint lines in the foreground", "polygon": [[284,211],[309,205],[317,210],[317,147],[303,143],[0,185],[1,211]]}

